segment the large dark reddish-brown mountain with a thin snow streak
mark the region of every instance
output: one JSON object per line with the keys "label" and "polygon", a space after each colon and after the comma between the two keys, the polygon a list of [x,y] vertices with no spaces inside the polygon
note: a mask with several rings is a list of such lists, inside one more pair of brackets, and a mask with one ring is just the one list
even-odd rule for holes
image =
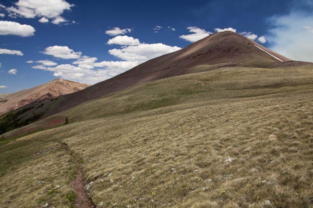
{"label": "large dark reddish-brown mountain with a thin snow streak", "polygon": [[[280,59],[280,60],[279,60]],[[101,81],[75,93],[61,95],[57,100],[43,100],[26,105],[16,113],[13,123],[22,126],[23,120],[35,121],[64,111],[83,102],[146,81],[170,76],[207,71],[226,66],[280,67],[291,61],[262,45],[231,31],[211,34],[187,47],[148,60],[124,73]],[[277,66],[278,65],[278,66]],[[8,120],[4,120],[9,123]],[[9,124],[8,124],[9,125]]]}

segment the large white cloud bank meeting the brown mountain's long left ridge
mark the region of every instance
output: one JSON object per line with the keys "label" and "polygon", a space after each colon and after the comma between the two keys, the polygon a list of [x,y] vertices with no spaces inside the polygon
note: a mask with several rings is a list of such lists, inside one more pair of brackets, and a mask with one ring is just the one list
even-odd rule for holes
{"label": "large white cloud bank meeting the brown mountain's long left ridge", "polygon": [[[120,37],[122,38],[120,39]],[[55,66],[52,65],[55,63],[51,63],[51,66],[49,66],[47,64],[49,60],[41,60],[36,61],[36,63],[40,64],[34,65],[32,67],[41,70],[51,71],[53,72],[54,76],[94,84],[99,81],[103,81],[105,79],[116,76],[148,59],[181,49],[180,47],[169,46],[163,43],[140,43],[139,39],[135,39],[133,37],[120,37],[117,36],[116,38],[112,38],[111,41],[109,41],[112,44],[114,43],[124,46],[121,48],[111,49],[109,50],[109,53],[121,58],[122,60],[98,61],[97,57],[82,55],[81,52],[75,52],[68,46],[55,45],[47,47],[44,53],[61,58],[75,58],[76,60],[73,61],[72,64],[68,63]],[[135,43],[138,45],[125,45]]]}

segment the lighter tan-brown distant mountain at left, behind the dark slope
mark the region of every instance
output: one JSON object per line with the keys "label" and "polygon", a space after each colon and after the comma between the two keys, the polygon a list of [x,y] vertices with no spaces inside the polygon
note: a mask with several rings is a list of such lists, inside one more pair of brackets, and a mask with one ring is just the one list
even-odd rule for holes
{"label": "lighter tan-brown distant mountain at left, behind the dark slope", "polygon": [[88,87],[88,84],[54,79],[48,83],[12,93],[0,100],[0,114],[20,108],[26,104],[42,99],[51,99],[62,94],[68,94]]}

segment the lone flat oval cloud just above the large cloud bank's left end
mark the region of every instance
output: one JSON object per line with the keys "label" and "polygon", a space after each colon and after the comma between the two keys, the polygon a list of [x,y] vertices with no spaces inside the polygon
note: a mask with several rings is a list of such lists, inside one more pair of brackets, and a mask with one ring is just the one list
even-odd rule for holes
{"label": "lone flat oval cloud just above the large cloud bank's left end", "polygon": [[46,47],[44,52],[48,55],[53,55],[57,58],[64,58],[64,59],[72,59],[72,58],[79,58],[82,52],[75,52],[73,49],[69,48],[68,46],[60,46],[54,45]]}

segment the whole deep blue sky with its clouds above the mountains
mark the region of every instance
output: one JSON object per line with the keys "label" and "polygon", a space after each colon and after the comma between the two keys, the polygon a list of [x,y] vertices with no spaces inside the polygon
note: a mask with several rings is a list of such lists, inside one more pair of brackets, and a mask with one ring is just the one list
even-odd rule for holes
{"label": "whole deep blue sky with its clouds above the mountains", "polygon": [[312,2],[0,0],[0,93],[93,84],[225,28],[313,61]]}

